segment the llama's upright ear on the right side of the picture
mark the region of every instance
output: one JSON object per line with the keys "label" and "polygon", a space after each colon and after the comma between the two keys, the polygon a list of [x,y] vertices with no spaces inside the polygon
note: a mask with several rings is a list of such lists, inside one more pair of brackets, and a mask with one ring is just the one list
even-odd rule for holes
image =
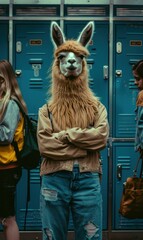
{"label": "llama's upright ear on the right side of the picture", "polygon": [[80,42],[84,47],[87,47],[89,42],[92,39],[93,33],[94,33],[94,22],[91,21],[82,30],[77,41]]}

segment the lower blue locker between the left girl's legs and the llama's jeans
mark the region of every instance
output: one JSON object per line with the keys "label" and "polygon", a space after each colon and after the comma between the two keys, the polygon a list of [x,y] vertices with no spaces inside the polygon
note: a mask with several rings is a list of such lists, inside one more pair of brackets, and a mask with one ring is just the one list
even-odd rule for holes
{"label": "lower blue locker between the left girl's legs and the llama's jeans", "polygon": [[[30,200],[28,194],[28,171],[23,169],[22,178],[17,186],[16,217],[20,230],[41,230],[40,217],[40,177],[39,168],[30,170]],[[28,204],[28,205],[27,205]],[[28,207],[28,208],[27,208]],[[27,213],[26,213],[27,208]],[[25,223],[26,217],[26,223]],[[24,229],[25,227],[25,229]]]}

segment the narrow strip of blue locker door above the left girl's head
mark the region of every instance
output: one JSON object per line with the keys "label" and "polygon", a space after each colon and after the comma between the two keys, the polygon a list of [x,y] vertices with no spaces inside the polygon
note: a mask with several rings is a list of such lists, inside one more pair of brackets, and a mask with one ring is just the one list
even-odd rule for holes
{"label": "narrow strip of blue locker door above the left girl's head", "polygon": [[8,24],[0,22],[0,60],[8,60]]}

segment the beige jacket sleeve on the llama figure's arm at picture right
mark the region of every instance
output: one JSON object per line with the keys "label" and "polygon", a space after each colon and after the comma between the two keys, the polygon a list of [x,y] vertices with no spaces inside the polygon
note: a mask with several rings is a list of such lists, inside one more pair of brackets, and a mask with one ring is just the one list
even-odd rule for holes
{"label": "beige jacket sleeve on the llama figure's arm at picture right", "polygon": [[66,138],[76,147],[85,150],[100,150],[106,146],[109,134],[107,111],[104,105],[100,104],[98,119],[91,128],[72,128],[66,131],[62,139]]}

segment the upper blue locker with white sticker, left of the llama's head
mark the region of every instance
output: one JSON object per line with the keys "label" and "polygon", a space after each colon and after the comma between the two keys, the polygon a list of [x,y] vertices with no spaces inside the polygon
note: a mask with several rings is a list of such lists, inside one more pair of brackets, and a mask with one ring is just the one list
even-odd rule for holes
{"label": "upper blue locker with white sticker, left of the llama's head", "polygon": [[48,97],[53,44],[50,23],[15,24],[15,69],[29,115],[36,115]]}

